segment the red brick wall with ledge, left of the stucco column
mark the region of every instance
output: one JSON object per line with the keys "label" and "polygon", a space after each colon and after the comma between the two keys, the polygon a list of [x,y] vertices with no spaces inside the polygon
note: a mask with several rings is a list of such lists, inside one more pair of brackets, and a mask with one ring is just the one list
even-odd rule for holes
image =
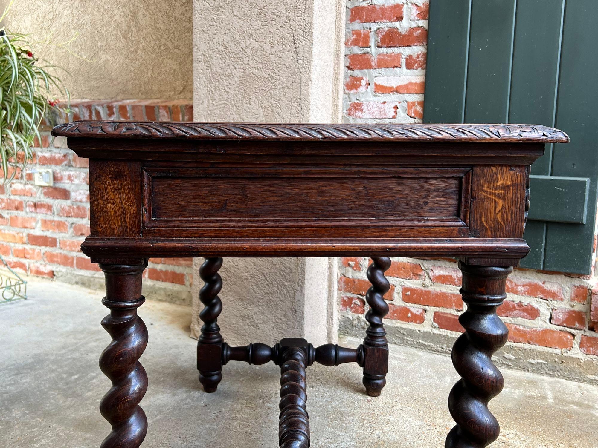
{"label": "red brick wall with ledge, left of the stucco column", "polygon": [[[190,101],[84,101],[71,106],[69,119],[138,119],[190,121]],[[89,234],[87,159],[66,149],[66,141],[51,142],[49,130],[35,142],[31,168],[51,168],[54,186],[33,185],[32,174],[0,184],[0,254],[16,271],[42,277],[97,275],[97,265],[81,253]],[[150,259],[145,277],[158,284],[189,287],[192,259]]]}

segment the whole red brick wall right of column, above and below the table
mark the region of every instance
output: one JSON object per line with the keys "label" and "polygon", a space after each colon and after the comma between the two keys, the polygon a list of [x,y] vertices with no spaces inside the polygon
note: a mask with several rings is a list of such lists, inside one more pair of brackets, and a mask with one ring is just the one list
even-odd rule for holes
{"label": "whole red brick wall right of column, above and below the table", "polygon": [[[423,118],[427,0],[351,0],[347,4],[344,75],[345,122],[420,122]],[[341,318],[367,309],[367,259],[343,258]],[[460,272],[449,260],[393,259],[390,326],[457,335],[463,309]],[[499,314],[509,340],[562,351],[573,357],[598,355],[596,277],[516,269]],[[590,295],[593,296],[590,314]]]}

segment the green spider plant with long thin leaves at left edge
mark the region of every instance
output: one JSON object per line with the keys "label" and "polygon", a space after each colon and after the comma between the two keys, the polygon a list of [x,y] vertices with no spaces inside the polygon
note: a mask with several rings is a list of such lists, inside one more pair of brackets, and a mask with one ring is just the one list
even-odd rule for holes
{"label": "green spider plant with long thin leaves at left edge", "polygon": [[58,67],[35,56],[28,35],[0,28],[0,162],[4,182],[17,172],[9,167],[24,168],[32,159],[33,140],[41,141],[39,126],[44,119],[54,125],[65,112],[53,93],[66,98],[68,112],[68,90],[60,78],[48,73],[54,68]]}

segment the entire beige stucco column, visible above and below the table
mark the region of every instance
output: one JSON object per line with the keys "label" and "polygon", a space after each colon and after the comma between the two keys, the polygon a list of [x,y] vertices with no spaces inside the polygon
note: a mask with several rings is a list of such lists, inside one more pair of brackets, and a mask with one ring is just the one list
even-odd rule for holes
{"label": "entire beige stucco column, visible above and below the table", "polygon": [[[194,119],[340,122],[343,37],[343,0],[194,0]],[[193,337],[201,324],[202,261],[194,261]],[[225,340],[333,342],[336,265],[329,259],[224,259],[219,323]]]}

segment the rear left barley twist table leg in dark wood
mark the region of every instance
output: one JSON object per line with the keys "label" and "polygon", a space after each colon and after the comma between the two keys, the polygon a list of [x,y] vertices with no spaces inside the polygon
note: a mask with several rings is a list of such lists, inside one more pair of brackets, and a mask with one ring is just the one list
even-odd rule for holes
{"label": "rear left barley twist table leg in dark wood", "polygon": [[215,392],[222,379],[222,336],[217,322],[222,311],[222,301],[218,297],[222,289],[222,278],[218,274],[221,267],[221,258],[206,258],[199,269],[199,276],[205,282],[199,291],[199,300],[205,308],[199,314],[203,326],[197,342],[197,370],[199,382],[206,392]]}

